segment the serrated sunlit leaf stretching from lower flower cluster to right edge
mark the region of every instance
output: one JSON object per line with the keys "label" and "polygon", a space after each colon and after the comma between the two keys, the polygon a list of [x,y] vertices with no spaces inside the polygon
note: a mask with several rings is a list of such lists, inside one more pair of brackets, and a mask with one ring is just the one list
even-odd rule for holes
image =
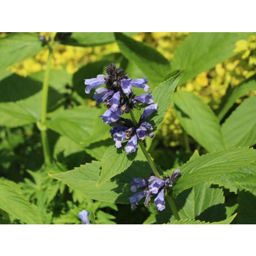
{"label": "serrated sunlit leaf stretching from lower flower cluster to right edge", "polygon": [[235,172],[255,159],[256,150],[248,148],[227,149],[200,156],[180,168],[181,177],[173,192],[177,195],[201,182],[211,183],[216,177]]}

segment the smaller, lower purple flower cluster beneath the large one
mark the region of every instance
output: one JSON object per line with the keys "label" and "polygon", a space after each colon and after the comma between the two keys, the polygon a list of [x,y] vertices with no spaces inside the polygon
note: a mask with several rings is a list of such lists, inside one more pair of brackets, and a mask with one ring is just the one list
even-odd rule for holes
{"label": "smaller, lower purple flower cluster beneath the large one", "polygon": [[173,183],[177,180],[180,176],[180,169],[176,169],[171,178],[170,177],[163,177],[160,179],[156,176],[151,176],[149,179],[143,178],[134,178],[131,181],[131,191],[137,192],[137,189],[143,188],[140,192],[137,192],[133,196],[129,198],[130,203],[132,203],[132,209],[137,208],[138,203],[144,198],[145,199],[145,206],[150,205],[151,198],[155,195],[156,198],[154,203],[159,211],[165,209],[165,192],[167,188],[172,187]]}

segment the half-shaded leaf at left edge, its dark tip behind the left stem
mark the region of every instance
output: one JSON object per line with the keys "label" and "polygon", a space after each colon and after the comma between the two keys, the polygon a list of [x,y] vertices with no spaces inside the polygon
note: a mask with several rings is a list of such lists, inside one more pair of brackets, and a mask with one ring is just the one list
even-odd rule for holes
{"label": "half-shaded leaf at left edge, its dark tip behind the left stem", "polygon": [[[0,81],[0,125],[8,127],[22,126],[36,122],[41,116],[42,83],[16,74]],[[49,89],[48,111],[55,110],[62,95]]]}

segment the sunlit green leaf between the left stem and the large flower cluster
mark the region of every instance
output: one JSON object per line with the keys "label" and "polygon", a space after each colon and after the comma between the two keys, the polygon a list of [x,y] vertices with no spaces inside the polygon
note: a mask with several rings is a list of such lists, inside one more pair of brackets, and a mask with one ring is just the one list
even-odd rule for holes
{"label": "sunlit green leaf between the left stem and the large flower cluster", "polygon": [[109,127],[98,116],[102,109],[86,105],[56,113],[46,125],[81,147],[109,138]]}

